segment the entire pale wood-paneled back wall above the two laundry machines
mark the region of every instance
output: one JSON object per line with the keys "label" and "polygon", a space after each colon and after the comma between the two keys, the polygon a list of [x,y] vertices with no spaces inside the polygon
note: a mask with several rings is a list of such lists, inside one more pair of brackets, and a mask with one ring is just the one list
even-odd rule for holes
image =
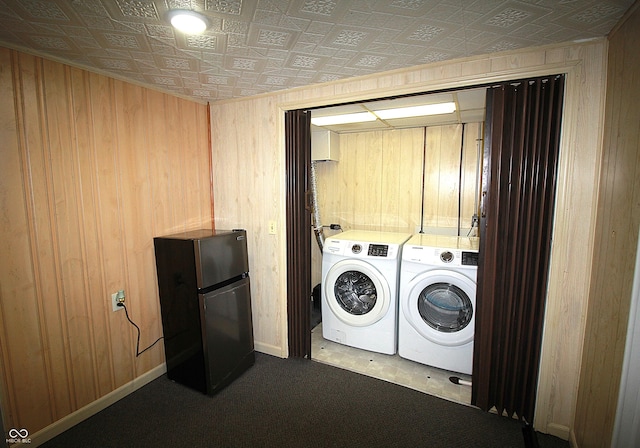
{"label": "entire pale wood-paneled back wall above the two laundry machines", "polygon": [[477,203],[476,138],[482,135],[478,136],[477,123],[465,125],[461,148],[462,128],[340,134],[339,160],[316,164],[323,224],[409,233],[421,227],[441,228],[456,234],[460,199],[460,224],[466,235]]}

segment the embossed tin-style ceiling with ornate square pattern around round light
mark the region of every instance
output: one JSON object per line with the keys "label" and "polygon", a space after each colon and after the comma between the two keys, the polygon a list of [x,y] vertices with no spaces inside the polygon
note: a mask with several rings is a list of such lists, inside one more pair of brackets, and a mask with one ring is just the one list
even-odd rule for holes
{"label": "embossed tin-style ceiling with ornate square pattern around round light", "polygon": [[[0,0],[0,45],[198,101],[605,36],[633,0]],[[205,14],[198,36],[171,9]]]}

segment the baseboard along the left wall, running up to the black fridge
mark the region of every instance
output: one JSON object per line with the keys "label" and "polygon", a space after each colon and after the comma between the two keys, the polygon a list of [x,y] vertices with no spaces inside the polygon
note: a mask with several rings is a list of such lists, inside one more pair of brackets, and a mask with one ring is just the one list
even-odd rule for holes
{"label": "baseboard along the left wall, running up to the black fridge", "polygon": [[98,398],[96,401],[89,403],[88,405],[78,409],[77,411],[61,418],[60,420],[50,424],[46,428],[41,429],[38,432],[30,434],[31,444],[28,446],[37,447],[53,439],[55,436],[63,433],[67,429],[77,425],[83,420],[97,414],[103,409],[111,406],[118,400],[126,397],[132,392],[140,389],[142,386],[150,383],[156,378],[162,376],[167,371],[167,366],[162,363],[158,367],[149,370],[148,372],[135,378],[133,381],[128,382],[117,388],[116,390],[109,392],[107,395]]}

